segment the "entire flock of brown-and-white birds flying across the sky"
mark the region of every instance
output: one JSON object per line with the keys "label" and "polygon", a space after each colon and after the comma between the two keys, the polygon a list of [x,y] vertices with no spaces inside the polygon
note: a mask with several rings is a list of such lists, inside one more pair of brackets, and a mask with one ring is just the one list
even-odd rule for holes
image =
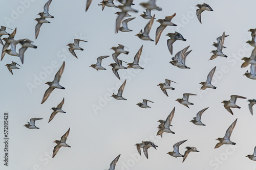
{"label": "entire flock of brown-and-white birds flying across the sky", "polygon": [[[128,28],[128,22],[132,21],[133,19],[135,19],[135,17],[132,18],[128,18],[128,19],[123,19],[124,17],[130,17],[131,15],[128,14],[128,12],[138,12],[138,10],[133,9],[131,6],[134,5],[133,4],[133,0],[117,0],[119,3],[121,3],[122,5],[116,6],[113,2],[113,0],[104,0],[102,1],[99,6],[102,6],[102,10],[104,10],[105,7],[113,7],[113,8],[118,8],[121,11],[120,12],[116,12],[116,14],[118,15],[117,19],[116,19],[116,28],[115,31],[116,33],[118,33],[118,31],[121,32],[131,32],[132,30],[130,30]],[[52,15],[49,14],[49,6],[51,4],[52,0],[49,0],[45,6],[44,6],[44,12],[40,12],[38,13],[38,15],[40,15],[40,18],[36,18],[35,20],[37,21],[37,25],[35,26],[35,39],[37,39],[38,35],[39,35],[39,31],[40,28],[42,26],[43,23],[50,23],[49,21],[47,21],[47,18],[54,18]],[[86,7],[86,11],[89,9],[90,5],[92,3],[92,0],[87,0],[87,7]],[[140,5],[142,7],[145,8],[145,12],[143,12],[144,14],[141,14],[140,16],[144,19],[148,19],[148,23],[145,26],[144,30],[140,31],[138,34],[136,34],[137,37],[139,37],[142,40],[149,40],[149,41],[154,41],[153,39],[150,38],[149,33],[151,31],[152,25],[154,23],[154,19],[155,19],[155,15],[151,15],[151,11],[152,10],[158,10],[161,11],[162,8],[158,7],[156,5],[156,0],[150,0],[147,3],[140,3]],[[198,4],[196,5],[196,7],[198,7],[199,9],[197,9],[196,14],[198,17],[198,20],[200,21],[200,23],[202,23],[201,21],[201,13],[203,11],[214,11],[211,9],[211,7],[207,4]],[[160,23],[160,26],[157,28],[156,30],[156,38],[155,38],[155,42],[156,44],[158,43],[158,41],[160,40],[161,34],[163,32],[163,30],[167,27],[167,26],[177,26],[175,23],[172,22],[172,19],[176,16],[176,13],[174,13],[172,16],[166,16],[164,19],[158,19],[157,22]],[[120,27],[122,23],[122,26]],[[7,27],[1,26],[0,29],[0,37],[2,37],[3,35],[8,35],[9,37],[3,38],[3,40],[5,41],[5,43],[3,43],[2,39],[0,38],[0,43],[3,46],[3,50],[2,50],[2,56],[1,56],[1,60],[3,60],[5,54],[9,54],[11,56],[17,56],[20,58],[22,64],[24,63],[24,53],[26,52],[28,47],[31,48],[37,48],[37,46],[33,45],[33,41],[29,40],[29,39],[19,39],[19,40],[15,40],[15,34],[16,34],[16,28],[15,30],[9,34],[8,32],[6,32]],[[8,28],[9,29],[9,28]],[[10,29],[11,30],[11,29]],[[251,37],[252,40],[247,41],[247,43],[249,43],[251,46],[254,47],[251,56],[249,58],[244,57],[242,60],[244,60],[244,63],[241,65],[241,67],[246,67],[250,64],[250,72],[248,72],[248,70],[245,72],[245,76],[249,79],[253,79],[256,80],[256,75],[255,75],[255,68],[256,68],[256,42],[255,42],[255,37],[256,37],[256,29],[250,29],[249,32],[251,32]],[[168,50],[170,52],[171,55],[173,55],[173,44],[175,41],[177,40],[181,40],[181,41],[186,41],[185,38],[183,38],[183,36],[178,33],[168,33],[167,36],[170,38],[167,40],[167,47]],[[210,57],[209,60],[213,60],[217,57],[227,57],[225,54],[223,54],[222,50],[224,47],[224,40],[225,37],[227,37],[228,35],[225,35],[225,32],[223,32],[222,36],[217,38],[217,42],[214,42],[214,46],[217,47],[217,50],[213,50],[211,51],[211,53],[213,53],[213,55]],[[81,48],[79,46],[79,42],[88,42],[85,40],[81,40],[81,39],[74,39],[74,43],[69,43],[67,44],[69,46],[69,51],[70,53],[77,58],[77,55],[75,54],[75,50],[81,50],[83,51],[83,48]],[[22,45],[19,48],[19,53],[16,52],[16,45],[20,44]],[[8,49],[8,47],[11,45],[10,49]],[[139,65],[139,60],[140,60],[140,56],[142,54],[142,48],[143,45],[139,48],[137,54],[134,57],[134,61],[131,63],[126,63],[125,61],[119,60],[118,56],[120,54],[129,54],[128,51],[124,50],[124,45],[122,44],[118,44],[118,46],[114,46],[111,48],[111,50],[114,51],[114,53],[112,54],[113,60],[115,61],[114,63],[111,63],[109,66],[112,67],[112,71],[114,73],[114,75],[120,80],[120,76],[118,74],[118,70],[119,69],[127,69],[127,68],[134,68],[134,69],[143,69],[140,65]],[[189,69],[188,66],[186,66],[186,57],[189,55],[190,51],[187,51],[189,48],[189,46],[185,47],[183,50],[179,51],[173,58],[172,61],[170,61],[169,63],[177,66],[179,68],[182,69]],[[98,57],[96,60],[96,64],[92,64],[90,65],[90,67],[98,70],[105,70],[105,68],[103,66],[101,66],[102,60],[105,58],[108,58],[110,56],[100,56]],[[122,63],[126,63],[126,66],[123,66]],[[12,62],[11,64],[6,64],[7,68],[9,69],[9,71],[11,72],[11,74],[13,74],[12,69],[19,69],[18,66],[20,66],[19,64]],[[63,70],[65,68],[65,62],[63,62],[63,64],[61,65],[61,67],[59,68],[58,72],[56,73],[54,80],[52,82],[47,82],[46,84],[49,85],[49,88],[46,90],[44,97],[42,99],[41,104],[43,104],[44,102],[46,102],[46,100],[49,98],[51,92],[58,88],[58,89],[65,89],[65,87],[62,87],[59,84],[61,75],[63,73]],[[211,84],[211,80],[212,77],[215,74],[215,70],[216,70],[216,66],[214,68],[211,69],[211,71],[209,72],[207,79],[205,82],[201,82],[200,84],[202,85],[201,90],[205,90],[206,88],[212,88],[212,89],[216,89],[217,87],[215,87],[214,85]],[[125,83],[126,80],[123,82],[123,84],[120,86],[117,94],[112,95],[112,97],[116,100],[126,100],[125,98],[123,98],[122,93],[125,87]],[[167,90],[175,90],[174,87],[171,87],[170,84],[171,83],[176,83],[172,80],[168,80],[165,79],[164,83],[159,83],[158,86],[160,86],[160,89],[163,91],[163,93],[168,96],[167,94]],[[192,94],[192,93],[184,93],[183,94],[183,98],[182,99],[177,99],[176,101],[179,102],[180,104],[184,105],[185,107],[189,108],[188,105],[194,105],[193,103],[190,103],[188,101],[189,96],[191,95],[196,95],[196,94]],[[231,95],[230,96],[230,100],[229,101],[223,101],[222,103],[224,104],[225,109],[231,113],[233,115],[233,112],[230,108],[238,108],[240,109],[239,106],[236,105],[236,101],[237,99],[246,99],[243,96],[239,96],[239,95]],[[51,120],[55,117],[55,115],[57,113],[66,113],[65,111],[63,111],[61,108],[64,104],[65,99],[63,98],[63,100],[61,101],[61,103],[57,106],[57,107],[53,107],[51,108],[53,110],[50,118],[49,118],[49,122],[51,122]],[[143,99],[142,103],[138,103],[137,105],[141,108],[150,108],[150,106],[147,105],[148,102],[154,103],[152,101]],[[255,99],[251,99],[248,100],[249,102],[249,110],[251,112],[251,114],[253,114],[252,111],[252,106],[254,104],[256,104],[256,100]],[[190,122],[198,125],[198,126],[205,126],[202,122],[201,122],[201,117],[202,114],[208,109],[204,108],[202,110],[200,110],[196,117],[194,117]],[[167,118],[165,120],[158,120],[158,122],[160,123],[160,125],[158,126],[158,132],[157,135],[160,135],[161,137],[163,136],[163,133],[172,133],[175,134],[175,132],[173,132],[172,130],[170,130],[170,127],[172,125],[172,119],[174,117],[175,114],[175,107],[172,110],[172,112],[170,112],[170,114],[167,116]],[[28,122],[28,124],[24,125],[26,128],[28,129],[39,129],[38,127],[35,126],[35,121],[36,120],[40,120],[42,118],[31,118],[30,122]],[[221,145],[223,144],[236,144],[235,142],[232,142],[230,140],[230,136],[231,133],[234,129],[234,127],[236,126],[237,123],[237,119],[229,126],[229,128],[227,129],[225,136],[223,138],[218,138],[216,140],[219,141],[219,143],[216,144],[215,148],[219,148],[221,147]],[[69,135],[70,132],[70,128],[69,130],[61,137],[60,140],[55,140],[54,142],[56,143],[56,146],[54,147],[54,151],[53,151],[53,157],[57,154],[57,152],[59,151],[59,149],[61,147],[70,147],[70,145],[68,145],[66,143],[67,137]],[[188,154],[190,152],[199,152],[197,151],[197,149],[195,147],[186,147],[186,151],[184,153],[184,155],[180,154],[179,152],[179,147],[181,144],[183,144],[184,142],[186,142],[187,140],[182,140],[179,141],[177,143],[175,143],[173,145],[174,151],[172,152],[168,152],[167,154],[173,157],[183,157],[183,161],[187,158]],[[139,152],[139,154],[141,155],[141,149],[143,149],[144,155],[145,157],[148,159],[148,148],[155,148],[157,149],[157,145],[155,145],[153,142],[151,141],[142,141],[141,143],[136,143],[135,144],[137,147],[137,150]],[[112,162],[110,165],[110,170],[114,170],[115,169],[115,165],[119,159],[120,155],[118,155]],[[254,148],[254,153],[252,155],[247,155],[247,157],[251,160],[256,161],[256,147]],[[183,162],[182,161],[182,162]]]}

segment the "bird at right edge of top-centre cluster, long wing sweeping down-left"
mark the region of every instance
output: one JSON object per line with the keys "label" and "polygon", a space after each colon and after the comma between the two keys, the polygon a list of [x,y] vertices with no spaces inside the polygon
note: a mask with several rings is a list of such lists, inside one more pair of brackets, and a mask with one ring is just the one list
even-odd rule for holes
{"label": "bird at right edge of top-centre cluster, long wing sweeping down-left", "polygon": [[172,19],[173,19],[173,17],[175,17],[175,15],[176,15],[176,13],[174,13],[172,16],[166,16],[165,19],[158,19],[157,20],[157,22],[160,23],[160,26],[157,28],[157,31],[156,31],[156,44],[158,43],[163,30],[167,26],[177,26],[176,24],[174,24],[172,22]]}

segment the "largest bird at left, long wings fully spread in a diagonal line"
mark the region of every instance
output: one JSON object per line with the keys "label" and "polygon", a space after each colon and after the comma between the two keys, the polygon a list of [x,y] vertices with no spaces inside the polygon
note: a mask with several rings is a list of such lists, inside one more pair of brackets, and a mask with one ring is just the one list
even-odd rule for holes
{"label": "largest bird at left, long wings fully spread in a diagonal line", "polygon": [[54,80],[52,82],[47,82],[46,83],[50,87],[46,90],[46,92],[44,94],[44,98],[42,98],[41,104],[45,103],[45,101],[49,98],[51,92],[55,88],[65,89],[65,87],[62,87],[61,85],[59,85],[59,80],[60,80],[61,75],[63,73],[64,67],[65,67],[65,61],[63,61],[63,64],[61,65],[61,67],[59,68],[58,72],[56,73],[56,75],[54,77]]}

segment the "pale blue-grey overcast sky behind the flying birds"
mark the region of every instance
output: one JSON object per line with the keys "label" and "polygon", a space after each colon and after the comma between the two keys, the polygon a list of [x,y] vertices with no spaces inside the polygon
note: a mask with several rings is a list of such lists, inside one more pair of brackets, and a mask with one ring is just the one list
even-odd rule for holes
{"label": "pale blue-grey overcast sky behind the flying birds", "polygon": [[[241,69],[241,58],[249,57],[252,47],[245,42],[250,40],[251,28],[256,27],[256,2],[245,1],[205,1],[214,12],[202,13],[202,24],[196,17],[195,5],[198,0],[157,1],[162,11],[152,11],[156,14],[150,37],[155,39],[155,32],[163,19],[176,13],[173,22],[177,27],[167,27],[158,42],[143,41],[134,35],[144,29],[149,20],[139,15],[144,9],[139,3],[146,0],[135,0],[132,13],[136,19],[129,22],[133,32],[115,34],[114,14],[118,9],[105,7],[101,11],[100,1],[94,0],[87,12],[85,0],[56,1],[50,5],[49,13],[54,18],[48,18],[51,23],[43,24],[38,38],[35,40],[34,19],[42,12],[47,1],[22,0],[5,1],[0,7],[1,26],[11,29],[17,27],[15,39],[28,38],[34,41],[37,49],[29,48],[25,53],[24,64],[20,69],[13,70],[11,75],[5,64],[11,61],[21,65],[18,57],[5,55],[0,63],[0,119],[5,111],[9,112],[9,167],[8,169],[108,169],[111,161],[121,154],[116,169],[255,169],[255,162],[245,158],[252,154],[256,145],[255,116],[248,109],[248,102],[238,99],[241,109],[232,109],[231,115],[221,103],[229,100],[230,95],[242,95],[247,99],[256,98],[256,82],[243,76],[249,66]],[[23,3],[26,2],[26,3]],[[119,5],[118,2],[114,2]],[[7,30],[11,33],[11,30]],[[167,33],[181,33],[187,41],[174,43],[174,55],[190,45],[193,50],[186,60],[191,69],[180,69],[168,62],[171,56],[165,36]],[[229,35],[225,39],[223,53],[228,58],[218,57],[208,61],[210,51],[215,50],[212,42],[221,36],[223,31]],[[7,36],[3,36],[7,37]],[[2,37],[2,38],[3,38]],[[68,43],[75,38],[88,42],[80,42],[84,51],[75,51],[76,59],[68,51]],[[121,80],[113,74],[112,57],[102,61],[106,70],[95,70],[89,67],[96,63],[99,56],[113,53],[110,48],[123,44],[129,49],[129,55],[121,54],[119,59],[132,62],[135,54],[143,44],[140,65],[144,70],[119,70]],[[17,46],[17,52],[18,48]],[[52,81],[62,62],[66,62],[60,85],[65,90],[55,89],[49,99],[40,104],[42,96],[49,87],[45,83]],[[215,78],[212,81],[217,89],[200,90],[200,82],[205,81],[208,72],[217,66]],[[109,96],[127,79],[123,97],[127,101],[117,101]],[[175,90],[167,90],[167,97],[157,86],[170,79],[178,84],[172,84]],[[190,109],[175,102],[182,98],[183,93],[194,93],[189,101],[195,105]],[[52,113],[50,108],[56,107],[65,97],[62,107],[66,114],[58,113],[48,124]],[[151,100],[152,108],[142,109],[136,106],[143,99]],[[159,119],[166,119],[170,111],[176,107],[171,130],[175,134],[164,133],[163,138],[156,136]],[[197,112],[209,107],[202,116],[206,126],[196,126],[189,121]],[[256,107],[254,106],[254,109]],[[23,125],[30,118],[40,117],[36,126],[40,129],[30,130]],[[231,135],[231,141],[236,146],[223,145],[214,149],[218,137],[224,137],[227,128],[238,118]],[[3,137],[3,122],[0,122]],[[67,143],[71,148],[62,147],[52,159],[54,140],[70,128]],[[173,151],[173,145],[188,139],[180,147],[184,154],[185,147],[196,147],[199,153],[190,153],[182,163],[182,158],[166,155]],[[142,140],[153,141],[159,147],[148,149],[148,160],[138,156],[134,144]],[[3,155],[3,142],[0,142]],[[2,157],[3,158],[3,157]],[[1,163],[1,167],[7,169]]]}

